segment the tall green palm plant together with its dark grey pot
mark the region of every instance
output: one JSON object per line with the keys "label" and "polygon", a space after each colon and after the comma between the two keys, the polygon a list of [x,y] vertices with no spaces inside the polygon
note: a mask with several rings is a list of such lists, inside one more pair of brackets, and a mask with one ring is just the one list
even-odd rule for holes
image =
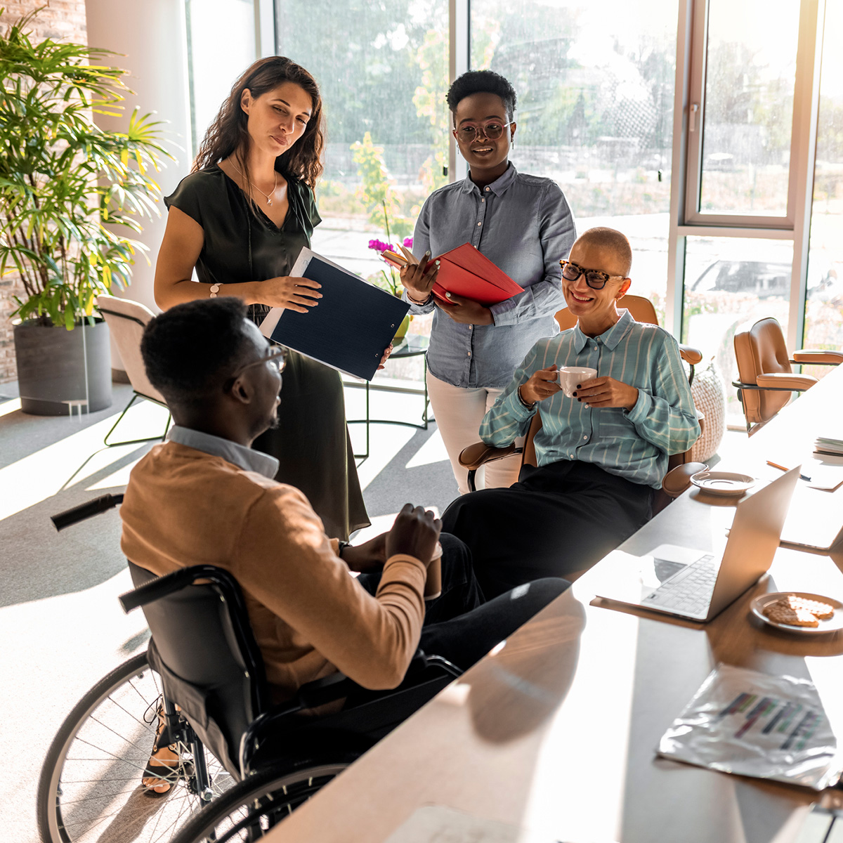
{"label": "tall green palm plant together with its dark grey pot", "polygon": [[[127,236],[158,213],[160,125],[135,110],[125,132],[94,115],[120,115],[131,93],[110,51],[42,40],[35,13],[0,39],[0,276],[16,272],[14,346],[22,409],[40,415],[111,403],[108,327],[94,302],[124,286],[146,247]],[[71,407],[68,407],[71,405]]]}

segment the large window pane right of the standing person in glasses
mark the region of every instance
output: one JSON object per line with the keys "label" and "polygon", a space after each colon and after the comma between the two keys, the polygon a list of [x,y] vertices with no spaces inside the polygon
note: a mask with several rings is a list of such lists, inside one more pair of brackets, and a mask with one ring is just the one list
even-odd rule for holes
{"label": "large window pane right of the standing person in glasses", "polygon": [[518,94],[519,170],[555,179],[577,230],[632,241],[660,319],[668,269],[676,0],[475,0],[471,64]]}

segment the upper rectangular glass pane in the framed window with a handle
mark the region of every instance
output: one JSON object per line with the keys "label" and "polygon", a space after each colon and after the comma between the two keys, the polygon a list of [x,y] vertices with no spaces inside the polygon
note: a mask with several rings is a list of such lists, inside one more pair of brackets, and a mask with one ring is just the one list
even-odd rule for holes
{"label": "upper rectangular glass pane in the framed window with a handle", "polygon": [[787,215],[799,3],[709,0],[700,207]]}

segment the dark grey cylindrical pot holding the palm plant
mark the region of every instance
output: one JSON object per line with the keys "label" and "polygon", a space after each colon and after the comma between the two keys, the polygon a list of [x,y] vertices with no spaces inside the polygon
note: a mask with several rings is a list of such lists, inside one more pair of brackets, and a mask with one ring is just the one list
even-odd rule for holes
{"label": "dark grey cylindrical pot holding the palm plant", "polygon": [[108,325],[73,330],[23,322],[14,326],[20,408],[35,416],[93,413],[111,405]]}

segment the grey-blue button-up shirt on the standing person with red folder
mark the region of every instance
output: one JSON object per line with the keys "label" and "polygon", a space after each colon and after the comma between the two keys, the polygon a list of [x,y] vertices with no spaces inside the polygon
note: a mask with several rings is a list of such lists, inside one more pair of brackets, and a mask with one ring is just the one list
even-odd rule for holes
{"label": "grey-blue button-up shirt on the standing person with red folder", "polygon": [[[428,196],[416,221],[414,255],[429,249],[436,257],[470,243],[524,287],[491,306],[494,325],[460,325],[436,309],[427,352],[431,373],[454,386],[506,386],[534,342],[559,330],[553,318],[565,307],[559,260],[576,237],[559,185],[518,173],[513,164],[482,190],[467,177]],[[434,307],[411,303],[411,313]]]}

